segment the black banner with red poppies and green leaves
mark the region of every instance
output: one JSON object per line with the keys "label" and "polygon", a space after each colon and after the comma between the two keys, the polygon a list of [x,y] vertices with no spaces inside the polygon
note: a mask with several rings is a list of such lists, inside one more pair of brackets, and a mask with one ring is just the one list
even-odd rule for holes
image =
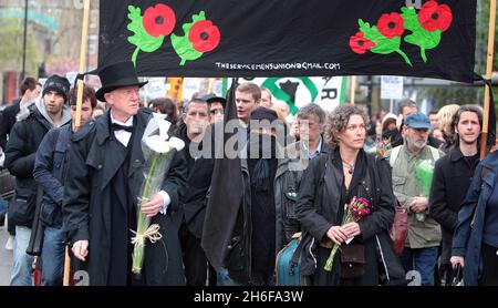
{"label": "black banner with red poppies and green leaves", "polygon": [[473,81],[473,0],[101,0],[100,10],[98,65],[133,60],[141,75]]}

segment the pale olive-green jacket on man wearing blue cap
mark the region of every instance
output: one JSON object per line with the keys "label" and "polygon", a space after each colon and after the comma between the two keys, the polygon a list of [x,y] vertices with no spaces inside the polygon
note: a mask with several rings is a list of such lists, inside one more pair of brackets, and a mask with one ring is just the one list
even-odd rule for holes
{"label": "pale olive-green jacket on man wearing blue cap", "polygon": [[[392,163],[394,195],[403,207],[408,208],[408,236],[405,247],[427,248],[439,246],[442,240],[440,225],[428,216],[428,208],[423,213],[423,219],[417,219],[417,215],[409,211],[409,204],[413,198],[424,196],[417,183],[415,166],[423,160],[430,160],[434,163],[433,152],[438,150],[430,150],[430,146],[426,145],[418,155],[414,155],[405,145],[400,146],[401,148],[395,160],[394,157],[391,160],[394,148],[390,150],[386,156]],[[440,151],[438,153],[439,157],[444,155]],[[428,196],[425,197],[428,198]]]}

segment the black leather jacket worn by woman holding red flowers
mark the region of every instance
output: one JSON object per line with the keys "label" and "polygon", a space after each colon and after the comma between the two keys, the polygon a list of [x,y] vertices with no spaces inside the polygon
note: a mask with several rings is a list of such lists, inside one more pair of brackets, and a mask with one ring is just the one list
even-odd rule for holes
{"label": "black leather jacket worn by woman holding red flowers", "polygon": [[[394,220],[394,195],[388,164],[385,160],[375,160],[366,154],[364,157],[367,172],[359,186],[357,195],[369,199],[372,214],[360,220],[359,225],[362,242],[364,245],[373,245],[376,251],[376,258],[366,259],[366,266],[377,263],[380,284],[404,280],[405,273],[387,235]],[[302,226],[303,238],[309,242],[302,253],[301,275],[323,270],[317,268],[314,247],[326,236],[326,230],[336,225],[341,194],[339,184],[342,183],[343,175],[335,171],[333,160],[333,152],[313,160],[303,175],[307,181],[302,182],[299,189],[295,214]]]}

